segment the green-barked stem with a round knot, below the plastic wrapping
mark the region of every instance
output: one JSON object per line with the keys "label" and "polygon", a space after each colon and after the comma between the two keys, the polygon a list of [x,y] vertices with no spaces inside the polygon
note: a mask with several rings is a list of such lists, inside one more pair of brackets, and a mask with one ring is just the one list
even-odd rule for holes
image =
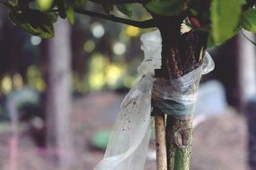
{"label": "green-barked stem with a round knot, below the plastic wrapping", "polygon": [[184,120],[175,115],[167,116],[166,139],[168,170],[189,170],[193,138],[192,115]]}

